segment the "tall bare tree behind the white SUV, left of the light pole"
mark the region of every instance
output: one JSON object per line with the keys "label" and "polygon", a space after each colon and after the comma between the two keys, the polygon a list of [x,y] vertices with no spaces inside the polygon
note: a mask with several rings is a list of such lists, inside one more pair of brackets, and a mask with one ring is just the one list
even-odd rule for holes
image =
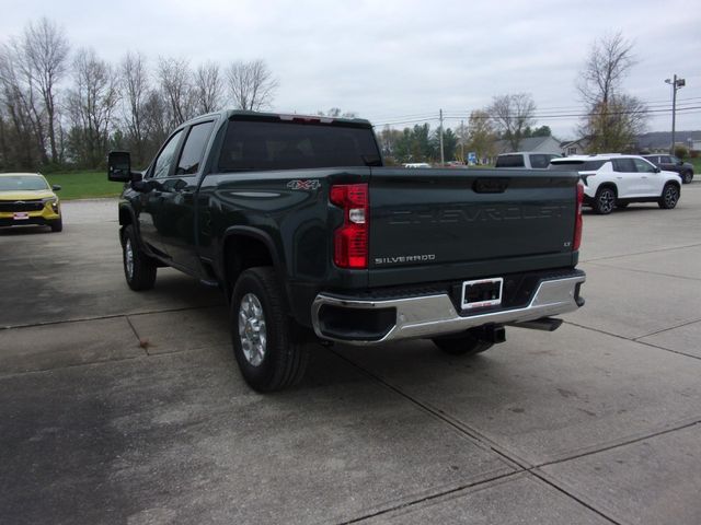
{"label": "tall bare tree behind the white SUV, left of the light pole", "polygon": [[579,128],[589,139],[588,150],[627,151],[644,131],[647,107],[621,91],[623,79],[635,65],[633,46],[621,33],[594,42],[577,90],[587,106]]}

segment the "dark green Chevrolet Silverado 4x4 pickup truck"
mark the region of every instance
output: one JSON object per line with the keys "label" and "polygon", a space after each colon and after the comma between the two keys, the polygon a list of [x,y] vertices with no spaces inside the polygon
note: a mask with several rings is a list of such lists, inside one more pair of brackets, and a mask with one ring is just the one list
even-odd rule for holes
{"label": "dark green Chevrolet Silverado 4x4 pickup truck", "polygon": [[367,120],[225,112],[143,173],[111,152],[108,178],[127,284],[169,266],[220,287],[258,392],[296,384],[314,340],[469,355],[584,304],[573,172],[389,167]]}

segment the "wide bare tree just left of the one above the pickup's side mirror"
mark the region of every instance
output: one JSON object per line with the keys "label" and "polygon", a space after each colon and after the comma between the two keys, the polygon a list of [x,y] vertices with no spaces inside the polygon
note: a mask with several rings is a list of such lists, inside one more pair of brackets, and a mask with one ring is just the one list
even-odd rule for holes
{"label": "wide bare tree just left of the one above the pickup's side mirror", "polygon": [[69,142],[74,160],[97,167],[107,151],[112,116],[119,101],[116,75],[93,49],[81,49],[73,61],[73,78],[68,93]]}

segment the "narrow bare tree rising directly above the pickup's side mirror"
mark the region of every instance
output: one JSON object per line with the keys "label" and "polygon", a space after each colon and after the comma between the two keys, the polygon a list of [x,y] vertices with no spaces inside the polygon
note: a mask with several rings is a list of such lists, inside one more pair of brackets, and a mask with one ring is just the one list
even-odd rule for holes
{"label": "narrow bare tree rising directly above the pickup's side mirror", "polygon": [[119,66],[122,100],[125,106],[127,138],[137,165],[145,161],[145,105],[149,94],[146,59],[140,52],[127,52]]}

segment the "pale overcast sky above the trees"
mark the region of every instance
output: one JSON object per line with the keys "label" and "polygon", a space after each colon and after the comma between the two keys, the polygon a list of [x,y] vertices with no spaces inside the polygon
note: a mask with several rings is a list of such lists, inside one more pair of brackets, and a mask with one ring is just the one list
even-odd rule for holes
{"label": "pale overcast sky above the trees", "polygon": [[[674,73],[677,130],[701,129],[701,1],[304,1],[304,0],[2,0],[0,40],[48,16],[73,49],[93,47],[116,62],[126,50],[151,61],[264,59],[279,81],[279,112],[331,107],[374,124],[438,116],[456,119],[494,95],[530,93],[539,114],[581,112],[575,81],[591,43],[622,32],[637,65],[625,90],[668,110]],[[430,121],[432,126],[436,121]],[[407,122],[407,126],[413,122]],[[576,118],[541,117],[560,139]],[[397,127],[403,127],[398,125]],[[668,131],[670,113],[650,119]]]}

